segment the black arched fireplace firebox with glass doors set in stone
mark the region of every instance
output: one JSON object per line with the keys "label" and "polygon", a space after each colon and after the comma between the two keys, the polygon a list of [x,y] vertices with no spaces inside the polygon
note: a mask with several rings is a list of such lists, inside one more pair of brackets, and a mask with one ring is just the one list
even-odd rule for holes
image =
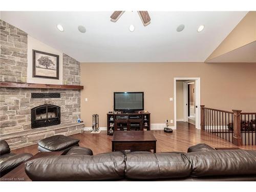
{"label": "black arched fireplace firebox with glass doors set in stone", "polygon": [[31,109],[31,128],[60,124],[60,107],[45,104]]}

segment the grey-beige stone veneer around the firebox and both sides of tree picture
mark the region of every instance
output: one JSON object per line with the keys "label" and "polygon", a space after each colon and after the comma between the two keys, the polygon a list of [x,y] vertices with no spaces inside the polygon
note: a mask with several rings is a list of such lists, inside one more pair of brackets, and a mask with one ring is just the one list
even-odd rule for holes
{"label": "grey-beige stone veneer around the firebox and both sides of tree picture", "polygon": [[[26,82],[27,33],[3,20],[0,30],[0,81]],[[80,85],[80,62],[63,54],[62,70],[63,84]],[[35,99],[31,93],[60,93],[61,98]],[[31,109],[43,104],[60,106],[61,124],[31,129]],[[35,144],[52,135],[81,133],[84,124],[75,125],[78,117],[80,90],[0,88],[0,139],[6,139],[11,148]]]}

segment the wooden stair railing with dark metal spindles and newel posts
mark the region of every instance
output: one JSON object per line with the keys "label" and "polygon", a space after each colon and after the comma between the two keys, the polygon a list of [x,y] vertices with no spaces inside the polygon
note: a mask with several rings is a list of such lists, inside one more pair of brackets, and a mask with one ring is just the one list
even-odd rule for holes
{"label": "wooden stair railing with dark metal spindles and newel posts", "polygon": [[[205,130],[206,127],[208,132],[219,137],[222,134],[222,138],[225,136],[228,141],[230,141],[229,133],[231,133],[231,142],[237,146],[241,146],[243,143],[246,145],[246,141],[249,145],[249,141],[252,145],[256,143],[255,119],[256,112],[242,113],[241,110],[232,110],[231,112],[206,108],[205,105],[201,105],[201,129]],[[225,135],[225,133],[228,134]]]}

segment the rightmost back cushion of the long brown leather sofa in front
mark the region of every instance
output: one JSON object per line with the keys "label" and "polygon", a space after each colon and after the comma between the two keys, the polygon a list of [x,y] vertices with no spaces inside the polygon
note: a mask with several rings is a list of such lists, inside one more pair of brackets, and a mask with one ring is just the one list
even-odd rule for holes
{"label": "rightmost back cushion of the long brown leather sofa in front", "polygon": [[192,164],[191,176],[256,174],[256,151],[216,150],[184,154]]}

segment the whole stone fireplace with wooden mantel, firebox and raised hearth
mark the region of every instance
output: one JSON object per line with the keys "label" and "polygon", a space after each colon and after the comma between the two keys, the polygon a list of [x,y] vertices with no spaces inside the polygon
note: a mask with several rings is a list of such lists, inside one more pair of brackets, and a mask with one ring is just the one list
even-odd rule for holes
{"label": "whole stone fireplace with wooden mantel, firebox and raised hearth", "polygon": [[[3,36],[0,46],[1,139],[13,150],[53,135],[82,133],[84,124],[77,123],[82,89],[77,88],[81,87],[80,62],[57,51],[60,64],[62,62],[59,83],[33,78],[29,50],[52,53],[53,48],[39,41],[28,41],[26,32],[1,19],[0,28]],[[40,46],[32,47],[37,45]]]}

